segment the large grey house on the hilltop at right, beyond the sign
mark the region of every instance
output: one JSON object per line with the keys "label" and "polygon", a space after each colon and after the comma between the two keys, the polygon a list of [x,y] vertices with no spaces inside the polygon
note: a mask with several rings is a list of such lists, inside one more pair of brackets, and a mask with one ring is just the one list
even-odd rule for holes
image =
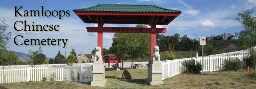
{"label": "large grey house on the hilltop at right, beyond the sign", "polygon": [[215,34],[214,34],[214,35],[211,35],[210,37],[206,37],[206,38],[207,38],[208,41],[210,41],[210,40],[214,40],[215,37],[217,37],[218,39],[220,37],[222,37],[224,40],[227,40],[228,37],[230,37],[230,39],[235,39],[235,36],[230,34],[230,33],[224,33],[224,34],[220,34],[220,35],[217,35],[217,36],[215,36]]}

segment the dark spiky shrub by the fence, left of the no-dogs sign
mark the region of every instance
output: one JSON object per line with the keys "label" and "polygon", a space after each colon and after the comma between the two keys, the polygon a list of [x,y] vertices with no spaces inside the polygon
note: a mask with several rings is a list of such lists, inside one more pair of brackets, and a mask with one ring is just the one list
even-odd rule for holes
{"label": "dark spiky shrub by the fence, left of the no-dogs sign", "polygon": [[182,65],[186,67],[189,73],[197,74],[197,73],[200,73],[200,71],[202,70],[201,63],[200,62],[196,63],[196,60],[193,58],[191,58],[191,60],[184,61]]}

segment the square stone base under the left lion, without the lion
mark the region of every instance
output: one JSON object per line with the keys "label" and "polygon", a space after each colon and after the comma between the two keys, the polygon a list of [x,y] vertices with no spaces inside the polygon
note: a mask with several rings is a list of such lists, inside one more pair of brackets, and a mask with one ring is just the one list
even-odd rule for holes
{"label": "square stone base under the left lion, without the lion", "polygon": [[107,80],[105,79],[105,64],[94,63],[92,70],[92,82],[91,86],[105,87]]}

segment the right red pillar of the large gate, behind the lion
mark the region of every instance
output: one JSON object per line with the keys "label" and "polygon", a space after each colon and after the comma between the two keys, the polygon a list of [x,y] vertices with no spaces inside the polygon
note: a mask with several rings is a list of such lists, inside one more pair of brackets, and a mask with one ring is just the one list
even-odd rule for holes
{"label": "right red pillar of the large gate, behind the lion", "polygon": [[[153,28],[156,28],[156,23],[151,23],[151,28],[153,29]],[[153,29],[153,31],[154,31],[154,29]],[[153,56],[153,48],[154,48],[154,46],[156,46],[156,33],[151,33],[151,56],[150,57],[152,57]],[[152,58],[151,58],[152,59]],[[149,61],[149,64],[151,63],[151,60],[150,59],[150,61]]]}

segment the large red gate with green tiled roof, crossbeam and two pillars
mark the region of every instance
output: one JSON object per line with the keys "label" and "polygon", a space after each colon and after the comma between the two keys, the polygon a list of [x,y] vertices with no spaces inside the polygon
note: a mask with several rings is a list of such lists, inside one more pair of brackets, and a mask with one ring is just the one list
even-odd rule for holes
{"label": "large red gate with green tiled roof, crossbeam and two pillars", "polygon": [[[84,23],[98,24],[98,27],[86,29],[88,32],[98,33],[97,46],[101,49],[103,33],[151,33],[151,56],[156,46],[156,33],[165,33],[167,30],[167,28],[156,28],[156,25],[168,25],[181,14],[179,10],[156,5],[126,4],[98,4],[88,8],[73,9],[73,11]],[[104,24],[143,24],[151,28],[103,27]]]}

